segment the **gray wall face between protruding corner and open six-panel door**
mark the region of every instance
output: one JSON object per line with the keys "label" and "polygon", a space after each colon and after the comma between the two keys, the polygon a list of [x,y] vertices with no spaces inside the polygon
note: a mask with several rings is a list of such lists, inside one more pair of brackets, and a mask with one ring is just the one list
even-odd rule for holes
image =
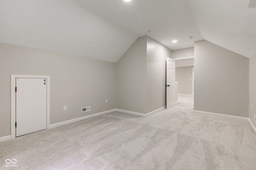
{"label": "gray wall face between protruding corner and open six-panel door", "polygon": [[172,51],[147,37],[147,113],[166,106],[166,57]]}

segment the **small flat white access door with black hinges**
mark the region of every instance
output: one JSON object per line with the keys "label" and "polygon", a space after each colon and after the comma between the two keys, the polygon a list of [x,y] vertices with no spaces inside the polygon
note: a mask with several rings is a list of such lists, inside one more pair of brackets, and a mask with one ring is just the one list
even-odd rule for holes
{"label": "small flat white access door with black hinges", "polygon": [[46,80],[16,78],[16,137],[46,129]]}

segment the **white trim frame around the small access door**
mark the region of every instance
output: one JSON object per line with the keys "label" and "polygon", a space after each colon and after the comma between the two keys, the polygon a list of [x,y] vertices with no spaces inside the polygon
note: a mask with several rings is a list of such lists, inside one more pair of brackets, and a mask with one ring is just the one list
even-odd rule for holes
{"label": "white trim frame around the small access door", "polygon": [[47,79],[46,89],[46,129],[50,128],[50,76],[11,75],[11,139],[16,137],[16,78],[44,78]]}

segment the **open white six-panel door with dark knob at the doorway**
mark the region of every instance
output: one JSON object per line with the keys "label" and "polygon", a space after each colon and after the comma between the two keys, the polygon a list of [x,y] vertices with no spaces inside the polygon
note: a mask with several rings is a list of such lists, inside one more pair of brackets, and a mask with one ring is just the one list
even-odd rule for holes
{"label": "open white six-panel door with dark knob at the doorway", "polygon": [[166,108],[175,106],[175,60],[166,59]]}

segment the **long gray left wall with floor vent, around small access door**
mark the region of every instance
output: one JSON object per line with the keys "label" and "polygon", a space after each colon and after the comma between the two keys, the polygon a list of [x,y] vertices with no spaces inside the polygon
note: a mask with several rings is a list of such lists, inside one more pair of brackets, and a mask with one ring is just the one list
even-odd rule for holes
{"label": "long gray left wall with floor vent, around small access door", "polygon": [[0,137],[10,135],[11,74],[50,76],[50,124],[116,108],[115,63],[0,43],[0,73]]}

